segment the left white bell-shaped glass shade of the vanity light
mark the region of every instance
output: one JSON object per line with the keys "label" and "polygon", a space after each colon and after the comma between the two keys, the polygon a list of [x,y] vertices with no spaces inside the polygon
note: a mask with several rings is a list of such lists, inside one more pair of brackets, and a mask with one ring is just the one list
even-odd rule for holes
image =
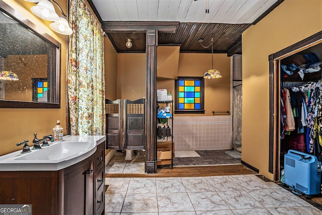
{"label": "left white bell-shaped glass shade of the vanity light", "polygon": [[52,22],[59,20],[59,16],[56,14],[55,8],[50,0],[41,0],[36,6],[31,7],[30,10],[44,20]]}

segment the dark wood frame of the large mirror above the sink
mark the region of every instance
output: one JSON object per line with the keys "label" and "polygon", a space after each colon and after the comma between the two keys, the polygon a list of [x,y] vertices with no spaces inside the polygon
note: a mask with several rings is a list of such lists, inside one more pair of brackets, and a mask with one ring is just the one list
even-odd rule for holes
{"label": "dark wood frame of the large mirror above the sink", "polygon": [[55,66],[55,73],[48,73],[48,82],[53,82],[54,84],[50,85],[50,92],[52,95],[50,99],[55,101],[53,103],[50,102],[29,102],[29,101],[15,101],[15,100],[0,100],[0,108],[60,108],[60,48],[61,44],[51,37],[47,33],[38,33],[35,29],[37,26],[32,23],[29,19],[25,18],[23,20],[18,19],[18,17],[24,17],[17,10],[7,5],[5,2],[0,0],[0,12],[4,12],[12,17],[14,20],[19,22],[23,27],[32,30],[37,36],[42,39],[51,42],[56,49],[56,54],[54,55],[54,50],[48,51],[48,54],[51,55],[49,58],[51,62],[47,63],[47,73],[48,70],[52,70],[52,66]]}

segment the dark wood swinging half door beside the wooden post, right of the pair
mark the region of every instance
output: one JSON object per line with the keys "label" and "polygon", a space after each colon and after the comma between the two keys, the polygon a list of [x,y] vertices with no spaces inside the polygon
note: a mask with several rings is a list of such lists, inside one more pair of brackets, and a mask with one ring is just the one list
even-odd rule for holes
{"label": "dark wood swinging half door beside the wooden post, right of the pair", "polygon": [[124,100],[124,148],[144,150],[144,101]]}

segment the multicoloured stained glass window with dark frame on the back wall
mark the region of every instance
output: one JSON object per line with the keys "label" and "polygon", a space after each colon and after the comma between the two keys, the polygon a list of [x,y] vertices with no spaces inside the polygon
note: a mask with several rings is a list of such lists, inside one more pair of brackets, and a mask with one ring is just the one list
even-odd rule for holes
{"label": "multicoloured stained glass window with dark frame on the back wall", "polygon": [[178,77],[175,80],[175,113],[204,113],[203,77]]}

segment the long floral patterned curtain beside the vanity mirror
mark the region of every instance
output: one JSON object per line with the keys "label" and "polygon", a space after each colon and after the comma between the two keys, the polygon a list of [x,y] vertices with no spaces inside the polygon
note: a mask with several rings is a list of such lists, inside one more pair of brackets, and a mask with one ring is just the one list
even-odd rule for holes
{"label": "long floral patterned curtain beside the vanity mirror", "polygon": [[103,30],[84,0],[69,1],[67,97],[71,135],[105,134]]}

